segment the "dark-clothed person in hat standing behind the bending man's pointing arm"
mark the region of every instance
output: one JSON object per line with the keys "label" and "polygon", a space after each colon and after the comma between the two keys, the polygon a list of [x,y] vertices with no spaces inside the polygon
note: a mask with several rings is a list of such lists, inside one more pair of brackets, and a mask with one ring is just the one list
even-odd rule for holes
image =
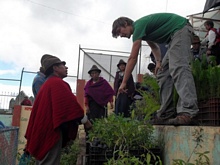
{"label": "dark-clothed person in hat standing behind the bending man's pointing arm", "polygon": [[130,75],[127,83],[126,83],[126,92],[125,93],[118,93],[118,88],[120,87],[124,73],[126,62],[122,59],[119,60],[117,64],[118,70],[115,75],[114,80],[114,91],[116,96],[116,105],[115,105],[115,113],[122,114],[124,117],[130,116],[130,106],[133,102],[133,95],[135,92],[135,85],[132,74]]}

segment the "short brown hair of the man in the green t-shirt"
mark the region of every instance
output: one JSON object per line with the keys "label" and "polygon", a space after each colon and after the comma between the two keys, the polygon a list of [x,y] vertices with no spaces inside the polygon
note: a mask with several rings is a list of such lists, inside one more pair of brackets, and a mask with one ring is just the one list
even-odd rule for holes
{"label": "short brown hair of the man in the green t-shirt", "polygon": [[126,24],[130,26],[133,24],[133,22],[133,20],[127,17],[119,17],[118,19],[116,19],[112,24],[112,37],[117,38],[119,36],[117,32],[117,29],[119,27],[125,27]]}

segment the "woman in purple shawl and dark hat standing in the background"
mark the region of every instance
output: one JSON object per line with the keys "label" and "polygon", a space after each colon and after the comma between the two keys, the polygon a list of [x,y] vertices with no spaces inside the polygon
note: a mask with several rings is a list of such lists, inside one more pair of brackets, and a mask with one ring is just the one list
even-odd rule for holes
{"label": "woman in purple shawl and dark hat standing in the background", "polygon": [[93,65],[88,71],[91,79],[84,88],[86,112],[91,121],[107,117],[108,102],[113,108],[114,91],[109,83],[103,77],[100,77],[100,73],[101,70],[96,65]]}

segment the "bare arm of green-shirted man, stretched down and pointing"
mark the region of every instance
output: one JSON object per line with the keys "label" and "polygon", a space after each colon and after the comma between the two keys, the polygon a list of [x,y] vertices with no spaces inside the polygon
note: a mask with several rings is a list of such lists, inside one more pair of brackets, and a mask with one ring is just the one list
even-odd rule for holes
{"label": "bare arm of green-shirted man, stretched down and pointing", "polygon": [[123,81],[122,81],[122,84],[121,86],[119,87],[119,92],[126,92],[125,88],[126,88],[126,83],[134,69],[134,66],[136,65],[137,63],[137,58],[138,58],[138,52],[140,50],[140,47],[141,47],[141,39],[140,40],[137,40],[133,43],[133,46],[132,46],[132,50],[131,50],[131,54],[128,58],[128,62],[127,62],[127,65],[126,65],[126,68],[125,68],[125,74],[124,74],[124,78],[123,78]]}

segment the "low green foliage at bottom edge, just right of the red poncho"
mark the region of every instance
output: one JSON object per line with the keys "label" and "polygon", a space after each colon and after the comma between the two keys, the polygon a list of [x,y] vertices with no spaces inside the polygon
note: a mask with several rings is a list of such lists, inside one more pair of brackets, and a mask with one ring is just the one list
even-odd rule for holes
{"label": "low green foliage at bottom edge, just right of the red poncho", "polygon": [[77,157],[80,153],[79,141],[70,141],[69,144],[62,149],[61,152],[61,165],[73,165],[77,162]]}

